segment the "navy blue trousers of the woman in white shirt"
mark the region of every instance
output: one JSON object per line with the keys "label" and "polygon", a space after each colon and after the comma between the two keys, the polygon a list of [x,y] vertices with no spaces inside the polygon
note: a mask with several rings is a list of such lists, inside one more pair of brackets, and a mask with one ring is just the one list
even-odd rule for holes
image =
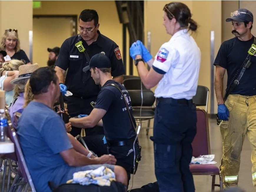
{"label": "navy blue trousers of the woman in white shirt", "polygon": [[195,192],[189,163],[196,135],[196,107],[192,101],[160,98],[154,117],[155,175],[160,192]]}

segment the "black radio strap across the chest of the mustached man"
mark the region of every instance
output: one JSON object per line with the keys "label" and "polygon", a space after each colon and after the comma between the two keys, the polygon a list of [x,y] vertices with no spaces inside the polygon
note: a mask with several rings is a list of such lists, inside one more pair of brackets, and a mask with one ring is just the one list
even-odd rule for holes
{"label": "black radio strap across the chest of the mustached man", "polygon": [[[241,68],[237,71],[237,73],[234,75],[232,81],[230,82],[230,85],[227,86],[226,92],[224,94],[223,100],[224,103],[228,97],[228,95],[230,95],[230,93],[235,89],[235,87],[237,87],[237,85],[239,84],[239,81],[241,80],[242,76],[245,73],[246,69],[249,69],[250,65],[252,64],[251,62],[251,57],[253,55],[256,54],[256,37],[254,37],[254,41],[253,44],[251,45],[250,49],[248,50],[248,55],[245,59],[245,61],[243,62]],[[240,72],[240,73],[239,73]],[[239,75],[238,75],[239,74]],[[238,76],[237,76],[238,75]],[[216,120],[217,120],[217,125],[219,125],[221,123],[222,120],[220,120],[220,118],[218,117],[218,114],[216,114]]]}

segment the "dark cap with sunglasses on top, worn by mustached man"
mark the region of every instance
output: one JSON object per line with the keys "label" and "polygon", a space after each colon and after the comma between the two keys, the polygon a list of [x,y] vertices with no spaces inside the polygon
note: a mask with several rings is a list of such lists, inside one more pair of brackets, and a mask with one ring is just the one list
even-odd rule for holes
{"label": "dark cap with sunglasses on top, worn by mustached man", "polygon": [[230,21],[237,21],[237,22],[252,22],[253,23],[253,15],[252,12],[248,9],[237,9],[237,11],[234,11],[231,13],[231,17],[226,19],[226,22]]}

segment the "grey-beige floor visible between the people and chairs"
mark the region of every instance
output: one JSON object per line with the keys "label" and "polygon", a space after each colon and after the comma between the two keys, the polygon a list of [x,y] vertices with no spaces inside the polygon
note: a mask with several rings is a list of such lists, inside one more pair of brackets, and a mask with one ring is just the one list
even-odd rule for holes
{"label": "grey-beige floor visible between the people and chairs", "polygon": [[[215,154],[215,161],[217,161],[217,166],[220,165],[221,155],[222,155],[222,143],[220,137],[220,129],[216,125],[216,120],[210,119],[210,143],[211,152]],[[152,124],[152,123],[151,123]],[[152,135],[152,129],[149,131],[149,136]],[[146,135],[146,130],[141,130],[139,134],[139,141],[142,145],[142,160],[139,162],[139,168],[133,178],[133,188],[139,188],[150,182],[156,181],[154,174],[154,153],[153,144]],[[252,163],[250,161],[250,145],[247,139],[243,145],[243,151],[241,155],[241,165],[239,173],[239,186],[245,189],[247,192],[255,192],[252,185],[252,173],[251,167]],[[0,180],[2,180],[0,173]],[[196,191],[199,192],[210,192],[211,191],[211,176],[194,176]],[[216,183],[219,179],[216,178]],[[1,181],[0,181],[1,186]],[[132,178],[130,181],[129,188],[132,186]],[[216,190],[218,188],[216,187]]]}

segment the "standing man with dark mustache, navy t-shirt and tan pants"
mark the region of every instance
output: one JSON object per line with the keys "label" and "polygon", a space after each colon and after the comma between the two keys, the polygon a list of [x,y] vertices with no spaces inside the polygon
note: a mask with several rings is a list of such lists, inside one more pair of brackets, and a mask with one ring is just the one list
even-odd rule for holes
{"label": "standing man with dark mustache, navy t-shirt and tan pants", "polygon": [[[222,43],[214,65],[215,92],[218,103],[218,117],[222,135],[223,155],[220,171],[223,187],[238,184],[238,172],[242,145],[247,135],[252,148],[252,182],[256,190],[256,57],[251,57],[251,65],[241,77],[241,66],[256,39],[251,33],[253,15],[247,9],[238,9],[226,19],[232,22],[234,38]],[[227,89],[237,80],[238,85],[228,91],[223,99],[223,76],[227,70]],[[227,92],[227,90],[226,90]],[[226,97],[225,97],[226,98]]]}

